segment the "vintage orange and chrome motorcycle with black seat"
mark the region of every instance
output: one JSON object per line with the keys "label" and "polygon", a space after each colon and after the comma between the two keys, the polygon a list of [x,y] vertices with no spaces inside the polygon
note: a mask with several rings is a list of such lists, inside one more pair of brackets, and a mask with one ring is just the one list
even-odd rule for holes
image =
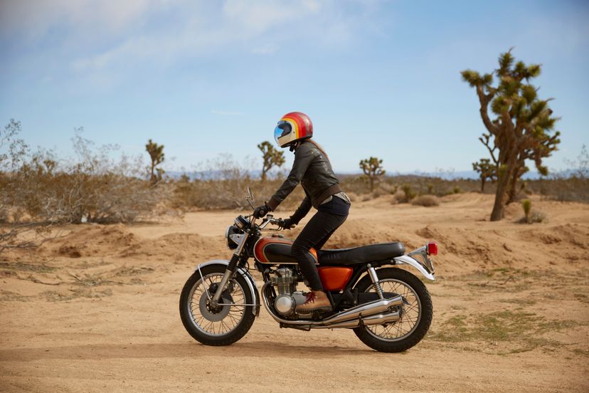
{"label": "vintage orange and chrome motorcycle with black seat", "polygon": [[[254,209],[248,187],[246,200]],[[299,330],[351,329],[368,347],[380,352],[402,352],[428,332],[433,305],[424,283],[407,266],[434,281],[431,256],[437,243],[430,241],[410,253],[400,242],[336,250],[310,249],[323,287],[333,307],[329,313],[298,314],[306,293],[295,258],[293,241],[282,234],[262,236],[283,228],[282,219],[268,214],[259,222],[240,215],[225,231],[233,256],[196,266],[180,295],[182,323],[190,335],[205,345],[231,345],[240,340],[260,307],[280,324]],[[248,261],[262,274],[258,293]]]}

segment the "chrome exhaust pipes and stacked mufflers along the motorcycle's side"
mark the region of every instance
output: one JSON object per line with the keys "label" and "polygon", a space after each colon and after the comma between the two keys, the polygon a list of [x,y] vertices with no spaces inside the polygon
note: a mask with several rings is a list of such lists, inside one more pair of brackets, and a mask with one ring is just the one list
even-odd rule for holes
{"label": "chrome exhaust pipes and stacked mufflers along the motorcycle's side", "polygon": [[[365,325],[380,325],[381,323],[390,322],[388,318],[394,318],[393,315],[396,315],[396,319],[398,320],[398,313],[386,313],[381,314],[387,311],[389,308],[403,305],[403,297],[396,296],[390,299],[379,299],[374,300],[370,303],[356,305],[356,307],[350,308],[349,310],[342,311],[341,313],[337,313],[336,315],[331,315],[331,317],[326,318],[324,320],[314,321],[314,320],[285,320],[280,318],[278,315],[272,312],[270,308],[269,302],[265,295],[265,289],[267,285],[271,285],[272,283],[269,281],[262,286],[262,303],[264,303],[264,308],[270,314],[274,320],[284,325],[295,325],[298,327],[309,327],[309,328],[336,328],[336,327],[358,327],[362,321],[367,321],[364,323]],[[370,318],[373,317],[373,318]],[[385,318],[383,322],[378,322],[378,318]]]}

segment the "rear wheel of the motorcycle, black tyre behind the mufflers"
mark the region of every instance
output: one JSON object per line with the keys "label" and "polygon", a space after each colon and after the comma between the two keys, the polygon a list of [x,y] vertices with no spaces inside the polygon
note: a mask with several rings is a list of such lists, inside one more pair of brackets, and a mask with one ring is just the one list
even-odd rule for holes
{"label": "rear wheel of the motorcycle, black tyre behind the mufflers", "polygon": [[[419,278],[408,271],[383,268],[376,272],[383,292],[403,296],[405,304],[400,309],[400,319],[385,325],[356,327],[354,332],[373,350],[403,352],[420,342],[428,332],[433,315],[432,298]],[[359,292],[374,292],[369,276],[364,276],[356,288]]]}

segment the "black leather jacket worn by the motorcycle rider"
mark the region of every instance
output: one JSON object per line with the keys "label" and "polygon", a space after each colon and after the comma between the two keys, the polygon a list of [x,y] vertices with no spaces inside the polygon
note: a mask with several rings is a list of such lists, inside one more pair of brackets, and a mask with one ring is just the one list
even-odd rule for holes
{"label": "black leather jacket worn by the motorcycle rider", "polygon": [[267,201],[268,207],[275,210],[299,183],[302,184],[306,196],[291,217],[295,224],[309,212],[311,206],[317,209],[319,204],[329,196],[341,192],[339,180],[331,169],[329,159],[317,146],[307,140],[303,140],[295,150],[295,162],[292,164],[290,174],[276,194]]}

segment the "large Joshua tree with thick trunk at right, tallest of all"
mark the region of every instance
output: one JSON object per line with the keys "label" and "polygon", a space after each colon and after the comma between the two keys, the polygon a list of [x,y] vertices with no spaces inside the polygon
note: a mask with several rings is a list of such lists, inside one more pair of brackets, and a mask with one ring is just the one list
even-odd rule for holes
{"label": "large Joshua tree with thick trunk at right, tallest of all", "polygon": [[[474,70],[462,71],[462,78],[477,91],[479,110],[487,133],[479,138],[491,153],[497,167],[497,192],[491,221],[499,221],[504,214],[509,187],[521,177],[522,163],[534,160],[538,172],[547,174],[542,159],[556,150],[560,132],[553,132],[558,117],[552,116],[548,100],[538,98],[538,89],[529,81],[540,75],[538,64],[514,64],[511,49],[499,56],[499,68],[484,75]],[[493,75],[499,83],[493,86]],[[494,119],[489,117],[489,105]],[[496,155],[497,153],[497,155]]]}

